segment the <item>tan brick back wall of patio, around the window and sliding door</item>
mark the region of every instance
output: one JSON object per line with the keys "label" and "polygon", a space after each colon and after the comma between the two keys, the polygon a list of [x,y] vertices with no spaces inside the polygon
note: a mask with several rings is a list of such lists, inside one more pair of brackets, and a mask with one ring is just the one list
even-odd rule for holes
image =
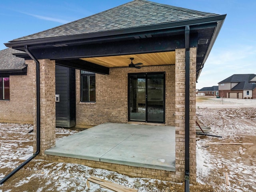
{"label": "tan brick back wall of patio, around the window and sliding door", "polygon": [[109,75],[96,74],[96,102],[80,102],[80,70],[76,70],[76,126],[104,122],[128,122],[128,73],[166,72],[166,125],[175,123],[175,66],[110,68]]}

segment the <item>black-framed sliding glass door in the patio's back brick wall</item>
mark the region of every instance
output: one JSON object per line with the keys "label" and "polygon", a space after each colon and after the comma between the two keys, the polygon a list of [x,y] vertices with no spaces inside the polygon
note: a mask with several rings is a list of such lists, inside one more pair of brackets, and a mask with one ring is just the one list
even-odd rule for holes
{"label": "black-framed sliding glass door in the patio's back brick wall", "polygon": [[164,123],[164,73],[129,74],[129,121]]}

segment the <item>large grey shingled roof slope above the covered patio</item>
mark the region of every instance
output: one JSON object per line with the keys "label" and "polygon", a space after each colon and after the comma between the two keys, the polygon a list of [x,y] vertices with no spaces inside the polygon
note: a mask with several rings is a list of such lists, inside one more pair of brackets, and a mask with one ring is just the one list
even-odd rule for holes
{"label": "large grey shingled roof slope above the covered patio", "polygon": [[156,24],[181,22],[184,20],[194,20],[211,16],[218,16],[218,14],[200,12],[150,2],[148,0],[134,0],[98,14],[36,34],[17,38],[10,42],[61,36],[86,35]]}

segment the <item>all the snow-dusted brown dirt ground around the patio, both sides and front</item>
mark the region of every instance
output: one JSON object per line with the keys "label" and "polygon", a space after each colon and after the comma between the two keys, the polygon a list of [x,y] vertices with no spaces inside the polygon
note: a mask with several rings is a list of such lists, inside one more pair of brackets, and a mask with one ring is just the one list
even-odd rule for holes
{"label": "all the snow-dusted brown dirt ground around the patio, both sides and front", "polygon": [[[198,107],[196,114],[201,126],[212,128],[210,134],[222,138],[198,136],[198,183],[190,186],[190,192],[256,192],[256,108]],[[31,156],[33,132],[28,131],[32,129],[31,125],[0,124],[0,179]],[[58,128],[56,138],[75,133]],[[93,183],[87,188],[86,179],[90,176],[136,188],[138,192],[184,192],[184,184],[130,178],[107,170],[39,159],[32,160],[2,184],[0,192],[109,191]]]}

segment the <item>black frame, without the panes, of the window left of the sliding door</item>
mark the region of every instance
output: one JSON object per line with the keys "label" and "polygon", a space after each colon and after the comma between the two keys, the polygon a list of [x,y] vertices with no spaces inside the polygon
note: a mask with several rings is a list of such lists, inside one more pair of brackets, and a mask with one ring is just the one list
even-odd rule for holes
{"label": "black frame, without the panes, of the window left of the sliding door", "polygon": [[[85,73],[82,73],[85,72]],[[87,78],[87,100],[83,100],[84,97],[84,92],[83,92],[83,78]],[[94,93],[94,100],[91,100],[90,98],[90,77],[94,77],[94,81],[95,81],[95,85],[94,85],[94,89],[95,89],[95,93]],[[96,102],[96,75],[95,73],[92,72],[86,72],[83,70],[80,70],[80,102],[83,103],[95,103]]]}

